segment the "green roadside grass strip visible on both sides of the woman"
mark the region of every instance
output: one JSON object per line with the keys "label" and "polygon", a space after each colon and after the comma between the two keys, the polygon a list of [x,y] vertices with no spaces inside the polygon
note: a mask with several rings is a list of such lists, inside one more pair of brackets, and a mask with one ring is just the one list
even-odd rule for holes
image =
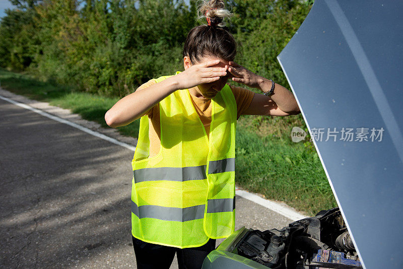
{"label": "green roadside grass strip visible on both sides of the woman", "polygon": [[[107,127],[106,111],[118,100],[1,68],[0,81],[3,88],[14,93],[70,109],[104,127]],[[302,142],[291,141],[291,128],[303,127],[301,124],[298,116],[241,117],[236,137],[236,182],[268,199],[284,201],[307,214],[315,214],[337,204],[316,152]],[[123,135],[138,137],[139,121],[118,129]]]}

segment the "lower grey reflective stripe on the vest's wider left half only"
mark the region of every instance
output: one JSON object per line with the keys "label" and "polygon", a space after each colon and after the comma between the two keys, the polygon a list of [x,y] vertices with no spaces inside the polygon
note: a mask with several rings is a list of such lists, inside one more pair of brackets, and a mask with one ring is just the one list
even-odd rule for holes
{"label": "lower grey reflective stripe on the vest's wider left half only", "polygon": [[200,204],[185,208],[165,207],[152,204],[137,206],[135,202],[131,201],[131,212],[139,219],[152,218],[163,221],[186,222],[203,219],[205,205]]}

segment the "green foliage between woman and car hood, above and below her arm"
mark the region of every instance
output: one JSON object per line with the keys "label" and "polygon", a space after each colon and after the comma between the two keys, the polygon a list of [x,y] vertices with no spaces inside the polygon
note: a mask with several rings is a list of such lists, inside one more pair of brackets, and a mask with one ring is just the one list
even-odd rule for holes
{"label": "green foliage between woman and car hood, above and below her arm", "polygon": [[[231,29],[240,44],[236,61],[252,72],[290,88],[277,56],[308,15],[312,5],[298,0],[232,0],[230,5],[234,12]],[[293,126],[306,129],[302,115],[254,118],[253,132],[267,133],[265,130],[270,129],[270,126],[280,126],[272,134],[280,138],[287,137],[284,141],[289,140]],[[315,151],[312,143],[306,142],[306,146]]]}

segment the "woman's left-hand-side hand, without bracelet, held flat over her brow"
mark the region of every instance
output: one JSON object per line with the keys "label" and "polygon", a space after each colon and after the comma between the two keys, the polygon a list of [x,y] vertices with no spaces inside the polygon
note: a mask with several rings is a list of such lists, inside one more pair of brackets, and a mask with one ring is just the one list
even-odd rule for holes
{"label": "woman's left-hand-side hand, without bracelet, held flat over her brow", "polygon": [[203,83],[214,82],[227,75],[226,67],[212,67],[218,63],[220,63],[220,60],[211,60],[192,65],[172,78],[176,79],[178,89],[189,89]]}

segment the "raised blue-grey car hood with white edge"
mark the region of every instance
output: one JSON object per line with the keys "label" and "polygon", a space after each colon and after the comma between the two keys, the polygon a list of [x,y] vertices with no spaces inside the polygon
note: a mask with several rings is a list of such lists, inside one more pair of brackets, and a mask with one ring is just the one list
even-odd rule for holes
{"label": "raised blue-grey car hood with white edge", "polygon": [[367,268],[403,267],[402,14],[316,0],[278,56]]}

